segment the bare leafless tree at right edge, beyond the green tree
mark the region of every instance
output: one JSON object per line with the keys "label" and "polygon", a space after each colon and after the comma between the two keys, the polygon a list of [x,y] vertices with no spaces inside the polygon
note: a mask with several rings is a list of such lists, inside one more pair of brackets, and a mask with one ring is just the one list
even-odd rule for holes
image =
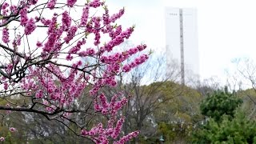
{"label": "bare leafless tree at right edge, beyond the green tree", "polygon": [[242,109],[249,118],[256,118],[256,65],[250,58],[234,59],[234,72],[230,74],[230,90],[243,98]]}

